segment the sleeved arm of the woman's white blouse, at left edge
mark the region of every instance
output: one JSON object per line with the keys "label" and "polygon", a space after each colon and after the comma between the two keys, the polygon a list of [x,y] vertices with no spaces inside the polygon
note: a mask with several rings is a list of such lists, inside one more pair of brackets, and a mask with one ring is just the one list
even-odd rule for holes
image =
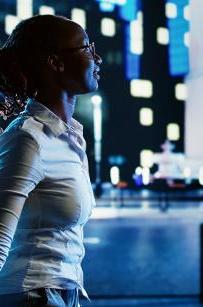
{"label": "sleeved arm of the woman's white blouse, at left edge", "polygon": [[0,270],[24,203],[44,178],[37,141],[21,129],[0,136]]}

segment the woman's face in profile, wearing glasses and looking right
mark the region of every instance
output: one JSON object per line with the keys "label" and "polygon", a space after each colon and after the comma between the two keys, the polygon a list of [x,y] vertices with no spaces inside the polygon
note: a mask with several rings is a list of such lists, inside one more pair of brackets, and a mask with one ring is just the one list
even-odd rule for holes
{"label": "woman's face in profile, wearing glasses and looking right", "polygon": [[60,85],[73,95],[95,91],[100,79],[101,57],[91,47],[87,48],[90,43],[88,35],[78,24],[68,22],[64,33],[61,51],[58,53],[63,61]]}

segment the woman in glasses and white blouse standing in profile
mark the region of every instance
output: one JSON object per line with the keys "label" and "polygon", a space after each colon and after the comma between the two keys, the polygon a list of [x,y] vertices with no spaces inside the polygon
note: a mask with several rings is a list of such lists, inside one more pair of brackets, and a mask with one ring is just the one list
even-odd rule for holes
{"label": "woman in glasses and white blouse standing in profile", "polygon": [[[80,306],[83,226],[94,196],[76,96],[98,87],[101,57],[62,16],[20,22],[0,50],[0,306]],[[25,109],[24,109],[25,106]]]}

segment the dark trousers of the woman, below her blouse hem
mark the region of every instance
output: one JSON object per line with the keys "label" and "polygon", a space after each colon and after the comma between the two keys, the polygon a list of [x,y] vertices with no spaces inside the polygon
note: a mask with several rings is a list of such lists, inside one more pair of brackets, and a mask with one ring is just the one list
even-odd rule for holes
{"label": "dark trousers of the woman, below her blouse hem", "polygon": [[38,288],[0,295],[0,307],[80,307],[78,289]]}

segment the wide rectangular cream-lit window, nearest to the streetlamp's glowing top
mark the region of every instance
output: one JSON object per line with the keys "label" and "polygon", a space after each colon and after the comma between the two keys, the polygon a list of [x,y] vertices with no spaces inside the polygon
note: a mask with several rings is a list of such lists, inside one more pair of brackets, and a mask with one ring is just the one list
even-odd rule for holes
{"label": "wide rectangular cream-lit window, nearest to the streetlamp's glowing top", "polygon": [[130,81],[130,93],[134,97],[150,98],[153,95],[153,84],[148,80],[133,79]]}

